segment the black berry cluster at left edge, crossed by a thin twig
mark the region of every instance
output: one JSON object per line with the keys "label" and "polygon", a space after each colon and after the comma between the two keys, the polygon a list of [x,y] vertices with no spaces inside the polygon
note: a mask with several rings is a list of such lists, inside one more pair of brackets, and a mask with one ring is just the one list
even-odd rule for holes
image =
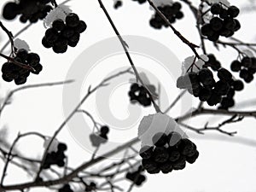
{"label": "black berry cluster at left edge, crossed by a thin twig", "polygon": [[5,62],[2,66],[2,78],[6,82],[15,80],[15,84],[17,85],[25,84],[30,73],[39,74],[43,69],[42,65],[39,63],[39,55],[28,53],[26,49],[17,50],[14,60],[33,67],[35,71],[29,71],[28,69],[22,68],[12,61]]}

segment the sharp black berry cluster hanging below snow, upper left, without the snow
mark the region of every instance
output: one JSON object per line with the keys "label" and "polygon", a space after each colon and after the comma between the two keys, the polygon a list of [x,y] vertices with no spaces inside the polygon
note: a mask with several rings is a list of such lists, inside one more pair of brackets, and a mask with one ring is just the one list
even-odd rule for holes
{"label": "sharp black berry cluster hanging below snow, upper left, without the snow", "polygon": [[55,20],[52,27],[47,29],[42,39],[45,48],[52,48],[55,53],[65,53],[67,46],[75,47],[79,43],[80,33],[86,30],[84,20],[79,20],[76,14],[68,14],[65,22]]}

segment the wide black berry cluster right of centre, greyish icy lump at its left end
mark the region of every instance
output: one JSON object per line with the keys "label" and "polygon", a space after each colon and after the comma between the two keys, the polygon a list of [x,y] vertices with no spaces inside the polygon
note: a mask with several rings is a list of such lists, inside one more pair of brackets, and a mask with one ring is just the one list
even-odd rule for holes
{"label": "wide black berry cluster right of centre, greyish icy lump at its left end", "polygon": [[[221,67],[214,55],[208,55],[209,60],[205,62],[198,72],[191,70],[177,79],[177,88],[186,89],[201,102],[207,102],[209,106],[220,103],[219,108],[228,109],[235,105],[235,91],[243,90],[241,80],[233,78],[230,71]],[[212,70],[210,70],[211,67]],[[212,71],[217,71],[218,80],[214,79]]]}

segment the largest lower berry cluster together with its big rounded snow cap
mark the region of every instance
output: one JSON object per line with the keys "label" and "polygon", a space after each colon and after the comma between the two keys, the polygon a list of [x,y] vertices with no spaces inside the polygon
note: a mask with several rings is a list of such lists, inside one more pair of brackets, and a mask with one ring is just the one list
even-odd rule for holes
{"label": "largest lower berry cluster together with its big rounded snow cap", "polygon": [[143,117],[138,127],[142,141],[142,166],[150,174],[182,170],[186,161],[194,163],[199,156],[194,143],[180,129],[177,122],[163,113]]}

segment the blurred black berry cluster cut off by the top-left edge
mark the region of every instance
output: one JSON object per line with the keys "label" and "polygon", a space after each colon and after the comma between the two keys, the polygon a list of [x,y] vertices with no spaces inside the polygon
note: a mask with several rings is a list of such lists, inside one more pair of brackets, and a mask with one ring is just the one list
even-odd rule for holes
{"label": "blurred black berry cluster cut off by the top-left edge", "polygon": [[49,2],[50,0],[20,0],[18,3],[6,3],[3,7],[3,18],[13,20],[17,15],[21,15],[20,22],[26,23],[29,20],[31,23],[36,23],[38,20],[43,20],[52,9],[47,5]]}

